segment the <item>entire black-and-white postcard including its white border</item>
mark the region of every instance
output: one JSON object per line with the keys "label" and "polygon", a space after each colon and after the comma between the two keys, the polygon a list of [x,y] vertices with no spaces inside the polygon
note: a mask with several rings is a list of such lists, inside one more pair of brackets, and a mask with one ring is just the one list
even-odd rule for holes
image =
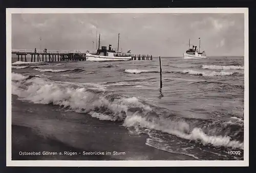
{"label": "entire black-and-white postcard including its white border", "polygon": [[7,12],[9,165],[248,164],[248,9]]}

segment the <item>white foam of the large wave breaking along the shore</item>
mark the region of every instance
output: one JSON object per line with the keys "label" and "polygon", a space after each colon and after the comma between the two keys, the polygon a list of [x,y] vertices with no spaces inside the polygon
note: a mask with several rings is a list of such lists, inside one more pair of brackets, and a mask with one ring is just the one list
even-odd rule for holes
{"label": "white foam of the large wave breaking along the shore", "polygon": [[153,109],[136,97],[116,96],[105,92],[94,93],[83,86],[64,82],[56,83],[42,78],[24,81],[26,78],[26,76],[12,73],[12,94],[18,95],[23,100],[38,104],[52,103],[73,111],[89,112],[91,116],[101,120],[122,120],[125,127],[155,129],[180,138],[199,140],[203,144],[243,150],[243,142],[231,140],[228,136],[209,136],[200,128],[190,129],[189,124],[184,120],[165,119],[158,116],[147,117],[145,115]]}

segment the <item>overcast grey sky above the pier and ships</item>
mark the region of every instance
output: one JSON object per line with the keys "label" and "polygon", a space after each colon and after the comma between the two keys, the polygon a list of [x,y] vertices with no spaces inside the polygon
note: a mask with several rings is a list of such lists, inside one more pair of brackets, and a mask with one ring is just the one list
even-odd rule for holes
{"label": "overcast grey sky above the pier and ships", "polygon": [[244,14],[12,14],[13,49],[92,51],[96,31],[134,54],[182,56],[201,37],[208,56],[244,55]]}

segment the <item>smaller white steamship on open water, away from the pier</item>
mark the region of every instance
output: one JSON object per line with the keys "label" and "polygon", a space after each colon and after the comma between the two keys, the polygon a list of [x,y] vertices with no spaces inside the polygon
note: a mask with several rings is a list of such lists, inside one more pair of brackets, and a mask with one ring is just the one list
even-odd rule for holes
{"label": "smaller white steamship on open water, away from the pier", "polygon": [[200,38],[199,38],[199,50],[197,46],[193,45],[193,48],[190,48],[190,39],[188,41],[188,50],[186,53],[183,53],[183,59],[205,59],[207,58],[206,53],[200,52]]}

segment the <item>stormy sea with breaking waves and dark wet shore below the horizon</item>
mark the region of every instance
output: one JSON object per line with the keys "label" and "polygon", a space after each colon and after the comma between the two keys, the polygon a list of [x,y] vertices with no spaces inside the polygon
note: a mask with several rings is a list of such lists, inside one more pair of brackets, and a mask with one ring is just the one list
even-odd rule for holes
{"label": "stormy sea with breaking waves and dark wet shore below the horizon", "polygon": [[12,58],[12,159],[243,160],[244,57],[161,62]]}

